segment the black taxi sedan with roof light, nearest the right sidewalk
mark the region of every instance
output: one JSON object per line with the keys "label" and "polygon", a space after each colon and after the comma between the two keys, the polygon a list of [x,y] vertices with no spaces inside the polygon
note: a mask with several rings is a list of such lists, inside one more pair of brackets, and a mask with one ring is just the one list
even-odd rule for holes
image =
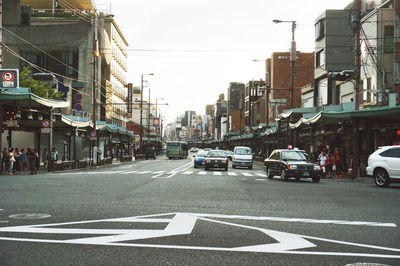
{"label": "black taxi sedan with roof light, nearest the right sidewalk", "polygon": [[310,161],[308,155],[298,149],[274,150],[269,158],[264,160],[264,170],[269,179],[275,175],[287,181],[290,177],[312,178],[314,183],[319,182],[322,176],[322,168]]}

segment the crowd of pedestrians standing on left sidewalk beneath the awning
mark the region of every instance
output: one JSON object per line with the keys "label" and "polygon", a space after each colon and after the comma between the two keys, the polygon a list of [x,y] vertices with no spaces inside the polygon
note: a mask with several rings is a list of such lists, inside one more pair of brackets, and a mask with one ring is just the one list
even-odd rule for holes
{"label": "crowd of pedestrians standing on left sidewalk beneath the awning", "polygon": [[[58,152],[56,148],[51,150],[50,160],[56,162],[58,160]],[[43,149],[42,152],[42,163],[44,169],[48,166],[48,150]],[[31,175],[37,174],[41,163],[39,150],[37,148],[4,148],[1,153],[1,171],[3,174],[14,175],[19,174],[21,171],[28,170]]]}

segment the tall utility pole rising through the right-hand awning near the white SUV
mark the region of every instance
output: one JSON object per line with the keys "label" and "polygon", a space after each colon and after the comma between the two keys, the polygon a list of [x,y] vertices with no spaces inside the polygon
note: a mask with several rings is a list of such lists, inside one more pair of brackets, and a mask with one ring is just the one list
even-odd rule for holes
{"label": "tall utility pole rising through the right-hand awning near the white SUV", "polygon": [[[361,0],[354,1],[354,34],[355,34],[355,64],[354,64],[354,79],[355,79],[355,109],[360,108],[360,68],[361,68],[361,41],[360,41],[360,24],[361,18]],[[360,145],[359,145],[359,120],[353,118],[353,165],[352,178],[357,177],[358,166],[360,164]]]}

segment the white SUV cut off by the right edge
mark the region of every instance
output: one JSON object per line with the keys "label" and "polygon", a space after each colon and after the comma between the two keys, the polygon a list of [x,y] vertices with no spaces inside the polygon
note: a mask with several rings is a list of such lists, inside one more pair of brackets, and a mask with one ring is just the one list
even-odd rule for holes
{"label": "white SUV cut off by the right edge", "polygon": [[378,187],[400,182],[400,146],[379,147],[368,158],[367,174]]}

